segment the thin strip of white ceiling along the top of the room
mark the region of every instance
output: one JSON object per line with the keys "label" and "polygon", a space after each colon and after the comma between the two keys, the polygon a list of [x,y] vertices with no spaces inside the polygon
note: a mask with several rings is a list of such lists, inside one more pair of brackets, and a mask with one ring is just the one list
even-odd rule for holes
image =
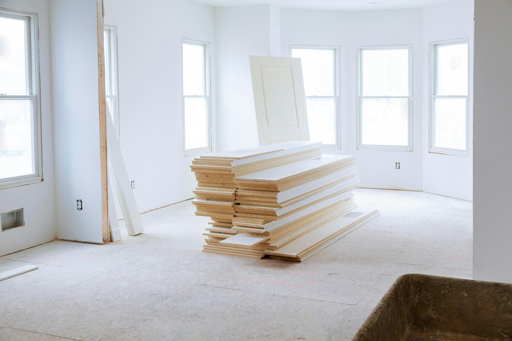
{"label": "thin strip of white ceiling along the top of the room", "polygon": [[[365,11],[396,8],[419,8],[451,0],[196,0],[199,3],[223,7],[245,5],[274,5],[284,8],[301,8],[336,11]],[[377,3],[377,4],[370,4]]]}

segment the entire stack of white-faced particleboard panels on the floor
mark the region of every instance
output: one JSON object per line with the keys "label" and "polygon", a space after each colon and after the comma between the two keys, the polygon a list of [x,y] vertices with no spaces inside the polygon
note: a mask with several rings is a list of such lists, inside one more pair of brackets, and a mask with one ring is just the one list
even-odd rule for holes
{"label": "entire stack of white-faced particleboard panels on the floor", "polygon": [[194,158],[196,215],[211,218],[203,252],[302,262],[378,215],[357,208],[351,155],[289,141]]}

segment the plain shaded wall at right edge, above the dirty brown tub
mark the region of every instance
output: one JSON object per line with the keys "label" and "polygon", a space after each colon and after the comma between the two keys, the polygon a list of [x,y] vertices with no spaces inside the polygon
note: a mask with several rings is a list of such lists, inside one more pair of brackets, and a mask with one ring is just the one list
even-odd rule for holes
{"label": "plain shaded wall at right edge, above the dirty brown tub", "polygon": [[512,283],[512,1],[475,0],[473,278]]}

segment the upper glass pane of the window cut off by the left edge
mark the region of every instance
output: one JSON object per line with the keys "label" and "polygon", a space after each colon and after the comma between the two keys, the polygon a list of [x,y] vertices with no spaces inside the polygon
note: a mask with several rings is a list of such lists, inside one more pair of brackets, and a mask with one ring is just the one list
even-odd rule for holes
{"label": "upper glass pane of the window cut off by the left edge", "polygon": [[0,17],[0,94],[27,94],[25,20]]}

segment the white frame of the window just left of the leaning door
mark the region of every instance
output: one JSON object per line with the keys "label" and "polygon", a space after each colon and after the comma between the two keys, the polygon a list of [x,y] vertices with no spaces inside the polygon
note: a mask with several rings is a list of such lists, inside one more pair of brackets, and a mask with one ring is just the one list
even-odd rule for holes
{"label": "white frame of the window just left of the leaning door", "polygon": [[[183,44],[195,44],[204,47],[204,93],[205,95],[184,95],[183,94]],[[211,75],[210,75],[210,43],[208,41],[182,38],[181,39],[181,94],[182,94],[182,116],[183,116],[183,156],[198,155],[211,152]],[[185,98],[205,98],[207,112],[208,146],[194,149],[185,149]]]}

